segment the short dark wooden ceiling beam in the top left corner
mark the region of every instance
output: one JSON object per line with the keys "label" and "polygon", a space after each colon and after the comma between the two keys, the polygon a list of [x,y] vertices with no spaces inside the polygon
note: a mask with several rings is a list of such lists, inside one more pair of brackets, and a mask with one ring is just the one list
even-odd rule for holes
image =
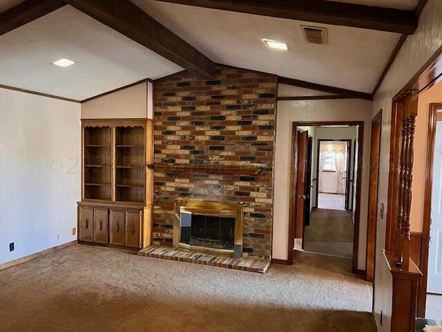
{"label": "short dark wooden ceiling beam in the top left corner", "polygon": [[0,36],[66,6],[61,0],[26,0],[0,12]]}

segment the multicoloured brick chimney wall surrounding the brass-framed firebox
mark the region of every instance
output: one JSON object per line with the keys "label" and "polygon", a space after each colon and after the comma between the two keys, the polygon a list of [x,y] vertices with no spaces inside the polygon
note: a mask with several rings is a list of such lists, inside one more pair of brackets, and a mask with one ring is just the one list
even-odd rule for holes
{"label": "multicoloured brick chimney wall surrounding the brass-framed firebox", "polygon": [[177,201],[222,201],[243,208],[242,256],[269,259],[276,76],[218,66],[154,85],[153,243],[173,245]]}

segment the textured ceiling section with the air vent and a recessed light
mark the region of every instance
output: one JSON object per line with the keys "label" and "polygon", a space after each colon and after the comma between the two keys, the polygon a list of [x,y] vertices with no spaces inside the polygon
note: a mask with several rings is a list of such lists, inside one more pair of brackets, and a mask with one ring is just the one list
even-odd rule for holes
{"label": "textured ceiling section with the air vent and a recessed light", "polygon": [[[399,35],[360,28],[311,24],[328,29],[329,44],[307,44],[306,22],[131,0],[214,62],[318,84],[371,93]],[[269,50],[262,38],[289,44]]]}

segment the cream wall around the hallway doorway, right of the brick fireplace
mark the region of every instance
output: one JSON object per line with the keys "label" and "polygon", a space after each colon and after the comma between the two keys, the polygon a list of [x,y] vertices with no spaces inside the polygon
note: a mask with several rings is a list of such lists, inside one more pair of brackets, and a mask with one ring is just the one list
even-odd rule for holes
{"label": "cream wall around the hallway doorway, right of the brick fireplace", "polygon": [[[281,84],[280,95],[287,93]],[[293,88],[289,88],[293,89]],[[298,88],[299,89],[299,88]],[[304,95],[309,91],[307,89]],[[278,93],[278,94],[279,94]],[[299,93],[299,92],[298,92]],[[361,186],[361,232],[359,234],[358,268],[365,269],[367,200],[369,175],[369,142],[372,123],[372,102],[360,99],[302,100],[278,102],[275,156],[275,188],[273,215],[273,252],[276,259],[287,259],[289,241],[289,167],[292,122],[302,121],[365,121],[364,158]]]}

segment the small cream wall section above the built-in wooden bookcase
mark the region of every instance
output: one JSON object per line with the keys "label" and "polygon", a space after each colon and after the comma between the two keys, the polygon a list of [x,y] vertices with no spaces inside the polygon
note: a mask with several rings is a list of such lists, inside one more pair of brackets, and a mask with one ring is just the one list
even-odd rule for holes
{"label": "small cream wall section above the built-in wooden bookcase", "polygon": [[146,119],[153,118],[148,109],[153,89],[151,82],[142,82],[126,89],[103,95],[81,104],[82,119]]}

